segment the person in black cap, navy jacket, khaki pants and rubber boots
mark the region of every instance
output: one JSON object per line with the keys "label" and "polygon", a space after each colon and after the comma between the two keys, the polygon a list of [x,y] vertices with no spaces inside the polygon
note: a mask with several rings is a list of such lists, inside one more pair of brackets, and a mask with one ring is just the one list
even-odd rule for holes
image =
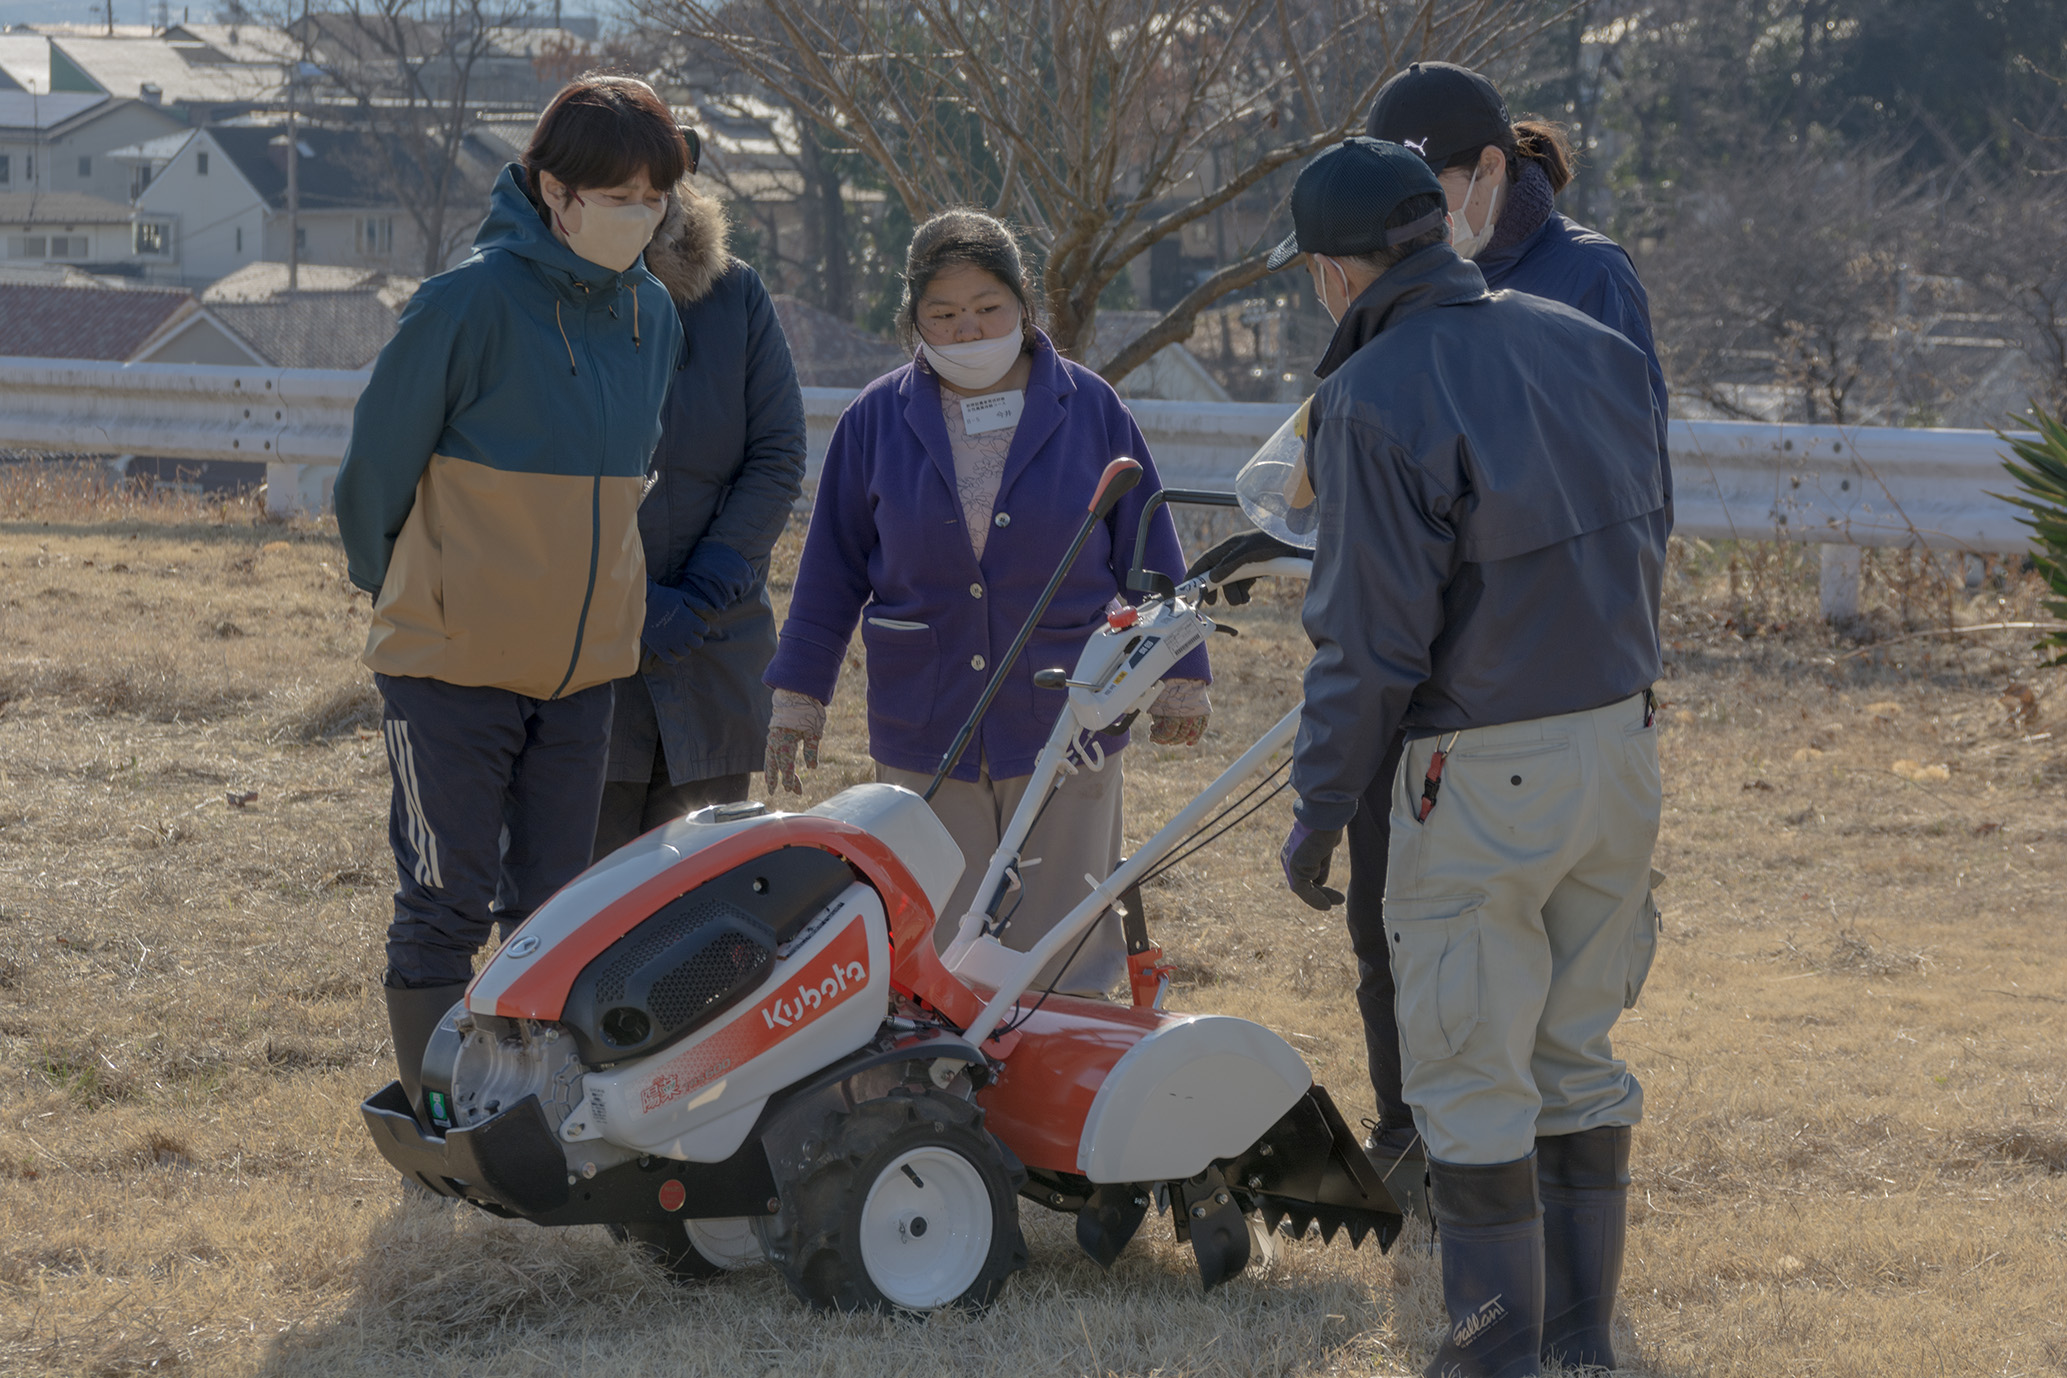
{"label": "person in black cap, navy jacket, khaki pants and rubber boots", "polygon": [[[1412,151],[1292,190],[1335,337],[1306,424],[1315,657],[1279,853],[1317,909],[1393,744],[1385,940],[1449,1333],[1432,1376],[1612,1368],[1629,1126],[1608,1033],[1658,942],[1649,686],[1670,502],[1643,351],[1449,242]],[[1362,944],[1360,944],[1362,948]]]}

